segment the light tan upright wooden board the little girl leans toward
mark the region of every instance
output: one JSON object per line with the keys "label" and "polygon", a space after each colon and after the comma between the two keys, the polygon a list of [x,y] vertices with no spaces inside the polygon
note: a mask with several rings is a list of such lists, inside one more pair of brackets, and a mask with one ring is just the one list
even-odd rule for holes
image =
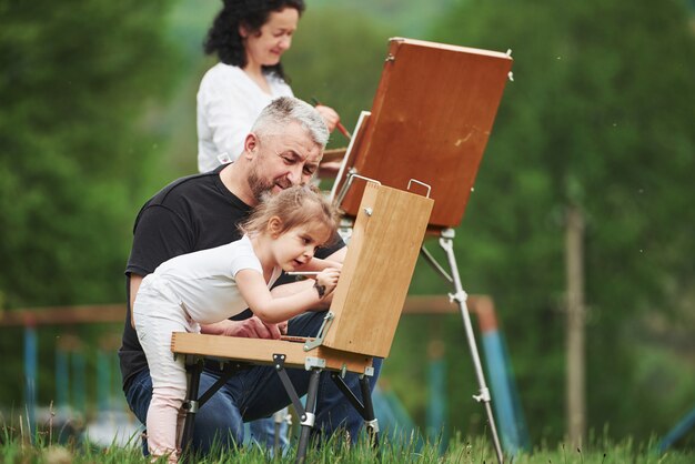
{"label": "light tan upright wooden board the little girl leans toward", "polygon": [[389,355],[433,204],[420,194],[366,184],[323,346]]}

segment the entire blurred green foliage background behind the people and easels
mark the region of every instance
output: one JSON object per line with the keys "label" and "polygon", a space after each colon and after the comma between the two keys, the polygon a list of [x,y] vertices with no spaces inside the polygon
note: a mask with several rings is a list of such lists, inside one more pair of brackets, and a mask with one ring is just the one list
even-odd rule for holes
{"label": "entire blurred green foliage background behind the people and easels", "polygon": [[[336,108],[348,128],[371,108],[389,37],[512,49],[515,80],[456,231],[464,288],[495,300],[533,441],[562,438],[564,214],[578,206],[590,426],[664,434],[695,391],[693,2],[308,3],[285,69],[298,97]],[[138,209],[195,170],[195,91],[214,62],[201,42],[216,9],[0,0],[0,307],[123,301]],[[446,291],[419,266],[413,293]],[[97,341],[120,327],[72,331]],[[9,354],[21,332],[1,333],[13,382],[0,394],[18,405],[21,359]],[[42,332],[42,403],[61,333]],[[425,423],[432,340],[446,346],[450,427],[483,433],[457,315],[404,317],[384,389]]]}

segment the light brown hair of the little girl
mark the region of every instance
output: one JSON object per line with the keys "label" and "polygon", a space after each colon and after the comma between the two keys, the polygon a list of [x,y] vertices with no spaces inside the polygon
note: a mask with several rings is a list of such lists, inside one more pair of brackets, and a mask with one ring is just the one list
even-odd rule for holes
{"label": "light brown hair of the little girl", "polygon": [[340,212],[315,186],[295,185],[275,195],[265,194],[239,229],[249,235],[262,233],[274,216],[281,222],[279,233],[309,222],[320,222],[333,238],[338,230]]}

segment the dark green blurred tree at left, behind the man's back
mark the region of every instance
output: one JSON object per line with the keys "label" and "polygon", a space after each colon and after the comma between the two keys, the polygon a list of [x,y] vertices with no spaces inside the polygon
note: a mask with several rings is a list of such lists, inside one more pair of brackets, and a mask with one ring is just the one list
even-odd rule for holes
{"label": "dark green blurred tree at left, behind the man's back", "polygon": [[177,74],[168,8],[1,2],[0,306],[123,300],[155,102]]}

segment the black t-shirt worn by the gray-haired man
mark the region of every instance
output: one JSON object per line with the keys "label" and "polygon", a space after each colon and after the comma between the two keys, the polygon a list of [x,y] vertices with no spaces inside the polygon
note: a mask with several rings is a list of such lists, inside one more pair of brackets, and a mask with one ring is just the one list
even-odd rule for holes
{"label": "black t-shirt worn by the gray-haired man", "polygon": [[[220,167],[212,172],[190,175],[167,185],[148,201],[135,219],[133,246],[125,268],[128,311],[119,350],[123,389],[148,362],[130,324],[130,274],[148,275],[164,261],[184,253],[205,250],[241,238],[236,224],[251,208],[222,183]],[[325,258],[344,244],[319,250]]]}

